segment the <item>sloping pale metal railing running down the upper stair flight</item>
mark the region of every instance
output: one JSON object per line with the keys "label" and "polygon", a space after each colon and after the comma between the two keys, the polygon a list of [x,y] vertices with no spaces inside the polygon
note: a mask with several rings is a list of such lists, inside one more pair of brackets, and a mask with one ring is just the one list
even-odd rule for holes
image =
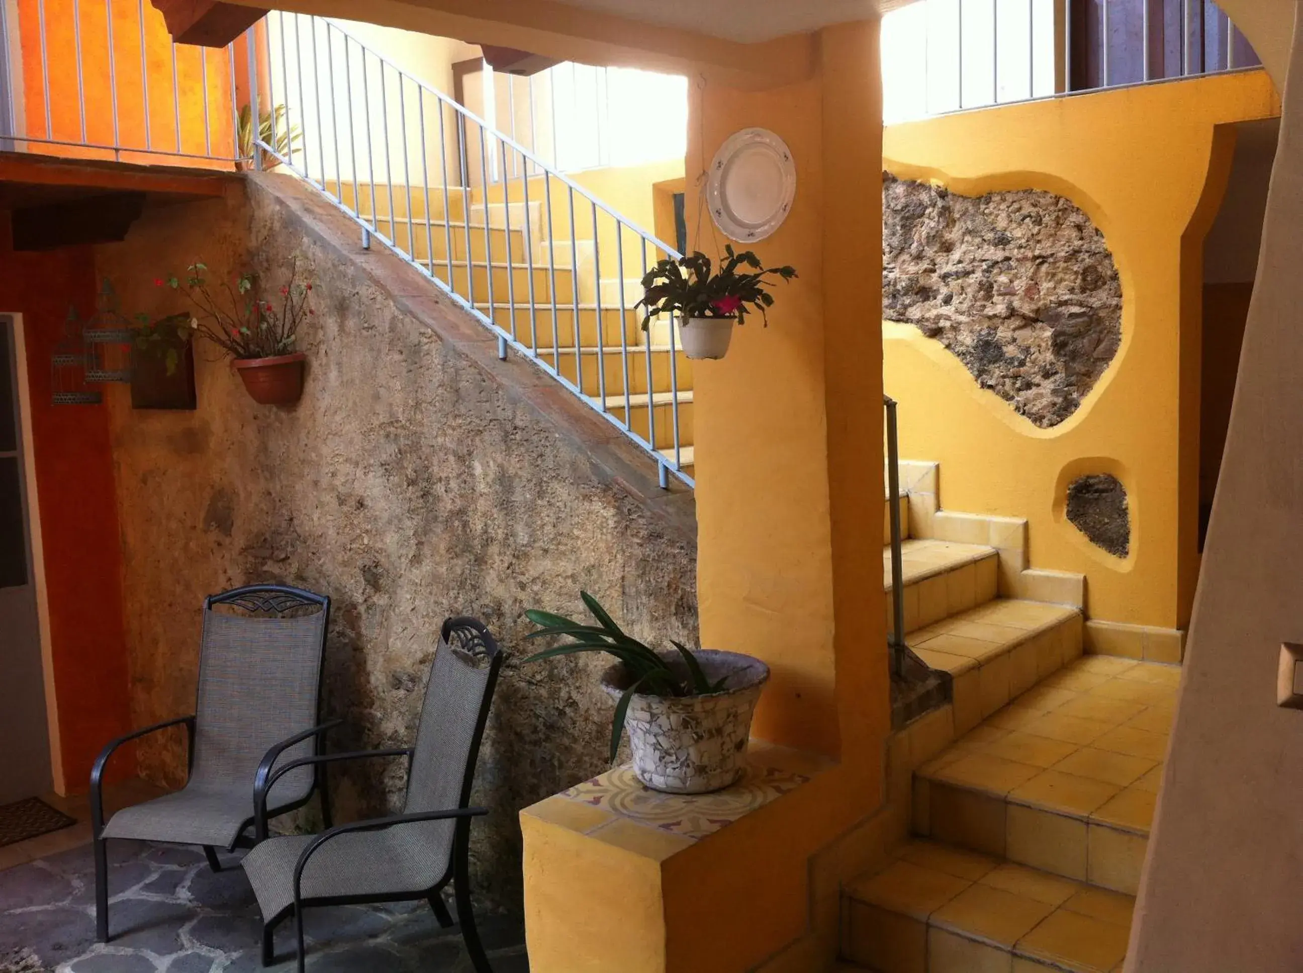
{"label": "sloping pale metal railing running down the upper stair flight", "polygon": [[[498,336],[692,485],[692,392],[668,322],[637,326],[637,281],[679,254],[337,23],[272,12],[250,64],[274,156]],[[284,129],[300,138],[284,139]],[[278,130],[280,129],[280,130]],[[257,156],[261,159],[262,156]],[[504,178],[494,181],[496,164]]]}

